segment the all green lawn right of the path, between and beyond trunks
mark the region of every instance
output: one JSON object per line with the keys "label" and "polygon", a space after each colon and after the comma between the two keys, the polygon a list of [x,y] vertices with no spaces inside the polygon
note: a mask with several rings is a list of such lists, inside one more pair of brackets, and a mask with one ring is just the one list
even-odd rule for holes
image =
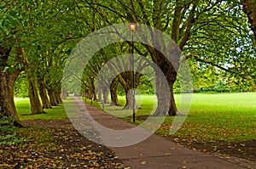
{"label": "all green lawn right of the path, between and beyond trunks", "polygon": [[[176,94],[177,105],[181,94]],[[174,133],[174,137],[201,140],[215,143],[218,141],[236,142],[256,140],[256,93],[194,93],[191,109],[183,126]],[[90,100],[88,100],[90,103]],[[119,97],[124,105],[125,97]],[[154,112],[154,96],[142,96],[140,110],[136,111],[137,124],[144,118],[138,116],[150,115]],[[93,102],[98,108],[101,103]],[[132,110],[123,110],[122,106],[105,104],[104,110],[111,115],[119,116],[131,122]],[[181,117],[176,117],[181,118]],[[174,117],[167,116],[160,129],[156,131],[161,136],[170,134]]]}

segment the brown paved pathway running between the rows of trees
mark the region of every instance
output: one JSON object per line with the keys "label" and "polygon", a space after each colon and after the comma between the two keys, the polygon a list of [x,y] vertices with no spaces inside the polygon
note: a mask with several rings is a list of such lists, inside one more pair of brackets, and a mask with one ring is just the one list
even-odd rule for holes
{"label": "brown paved pathway running between the rows of trees", "polygon": [[[113,129],[127,129],[135,127],[133,124],[108,115],[90,104],[87,110],[95,121],[105,127]],[[131,169],[244,169],[244,166],[224,161],[214,155],[206,155],[196,150],[181,147],[166,138],[153,134],[143,142],[127,147],[108,147],[113,149],[125,166]]]}

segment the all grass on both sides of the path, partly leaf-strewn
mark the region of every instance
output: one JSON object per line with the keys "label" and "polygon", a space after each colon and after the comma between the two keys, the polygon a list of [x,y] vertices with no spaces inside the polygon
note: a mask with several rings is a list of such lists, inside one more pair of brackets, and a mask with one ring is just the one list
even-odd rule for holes
{"label": "all grass on both sides of the path, partly leaf-strewn", "polygon": [[[180,104],[181,95],[175,95],[177,104]],[[137,110],[137,125],[143,123],[147,116],[153,111],[156,99],[154,96],[142,96],[137,98],[138,104],[142,109]],[[170,127],[174,118],[180,116],[167,116],[166,120],[156,131],[157,134],[167,139],[171,139],[177,144],[188,147],[189,149],[197,149],[207,154],[237,156],[248,161],[256,161],[255,158],[255,142],[256,142],[256,93],[218,93],[218,94],[193,94],[193,100],[189,115],[184,121],[183,126],[170,135]],[[67,102],[67,100],[65,100]],[[90,104],[90,100],[86,99]],[[125,104],[125,98],[119,97],[119,102]],[[101,103],[92,102],[93,105],[102,109]],[[58,120],[67,119],[66,112],[62,104],[55,106],[53,109],[45,110],[47,114],[41,115],[24,115],[30,113],[28,99],[15,99],[15,104],[20,116],[20,120],[57,120],[49,122],[61,122]],[[131,122],[131,110],[123,110],[123,106],[109,106],[106,104],[104,110],[109,114],[119,116],[125,121]],[[158,118],[158,117],[153,117]],[[176,120],[176,119],[175,119]],[[30,122],[30,121],[26,121]],[[40,121],[42,123],[42,121]],[[48,121],[45,121],[46,123]],[[40,123],[40,124],[41,124]],[[43,124],[43,123],[42,123]],[[55,149],[56,143],[52,143],[52,133],[49,128],[41,128],[37,126],[22,127],[17,130],[17,134],[21,138],[30,140],[22,145],[27,147],[40,149],[39,152],[49,152]],[[69,132],[61,136],[66,140]],[[58,138],[58,137],[57,137]],[[34,141],[31,144],[32,140]],[[66,142],[65,142],[66,143]],[[69,142],[68,142],[69,143]],[[68,145],[70,146],[70,145]],[[58,149],[57,149],[58,150]],[[11,150],[12,151],[12,150]],[[21,152],[15,150],[14,152]],[[29,151],[28,151],[29,152]],[[20,153],[24,157],[24,153]],[[39,153],[40,154],[40,153]],[[31,154],[29,154],[31,155]],[[7,155],[8,156],[8,155]],[[19,155],[16,155],[20,158]],[[9,158],[9,157],[8,157]],[[26,156],[25,156],[26,158]],[[47,157],[47,159],[49,159]],[[50,160],[50,159],[49,159]],[[3,161],[5,161],[3,159]],[[52,162],[53,164],[55,162]],[[65,163],[65,162],[64,162]],[[63,164],[64,164],[63,163]]]}

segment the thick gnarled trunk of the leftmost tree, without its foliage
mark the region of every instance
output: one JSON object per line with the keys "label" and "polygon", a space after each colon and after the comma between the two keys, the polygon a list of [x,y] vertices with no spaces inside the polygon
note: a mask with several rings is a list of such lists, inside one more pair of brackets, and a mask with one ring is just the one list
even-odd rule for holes
{"label": "thick gnarled trunk of the leftmost tree, without its foliage", "polygon": [[12,125],[21,127],[14,99],[14,85],[18,75],[19,73],[0,70],[0,119],[3,116],[12,117]]}

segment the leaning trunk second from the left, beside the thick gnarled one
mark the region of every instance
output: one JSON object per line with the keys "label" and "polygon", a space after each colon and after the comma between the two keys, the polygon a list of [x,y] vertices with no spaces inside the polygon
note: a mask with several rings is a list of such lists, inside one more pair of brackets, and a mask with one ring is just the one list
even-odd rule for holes
{"label": "leaning trunk second from the left, beside the thick gnarled one", "polygon": [[45,113],[38,96],[37,83],[34,80],[32,80],[30,76],[28,76],[28,85],[29,85],[28,94],[29,94],[30,105],[31,105],[31,114],[36,115],[36,114]]}

